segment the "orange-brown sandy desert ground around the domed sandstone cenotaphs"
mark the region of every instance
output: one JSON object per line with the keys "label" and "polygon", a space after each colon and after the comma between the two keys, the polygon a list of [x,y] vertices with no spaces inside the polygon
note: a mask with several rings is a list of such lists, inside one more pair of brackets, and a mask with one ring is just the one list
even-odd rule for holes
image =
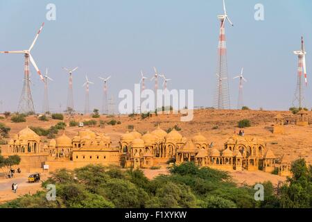
{"label": "orange-brown sandy desert ground around the domed sandstone cenotaphs", "polygon": [[[274,117],[277,114],[282,114],[291,124],[285,126],[284,135],[272,134],[272,125],[274,124]],[[312,121],[312,112],[309,112],[309,119]],[[207,137],[209,142],[213,142],[214,146],[218,149],[223,148],[223,144],[227,141],[229,137],[239,131],[237,128],[237,123],[241,119],[250,119],[252,126],[250,128],[245,128],[245,137],[258,137],[264,139],[267,147],[271,148],[277,157],[281,155],[289,155],[291,160],[297,159],[297,157],[305,153],[309,155],[309,162],[312,160],[312,126],[300,127],[295,126],[293,122],[296,116],[289,111],[261,111],[261,110],[195,110],[194,118],[189,122],[181,122],[180,114],[159,114],[147,119],[141,119],[139,115],[135,117],[128,117],[127,115],[115,115],[114,117],[101,116],[101,120],[110,121],[111,119],[116,119],[116,121],[121,121],[121,124],[116,126],[105,126],[100,128],[99,126],[85,127],[95,132],[106,133],[112,139],[112,146],[118,146],[119,137],[128,130],[128,126],[135,126],[135,129],[139,133],[146,133],[152,131],[160,123],[162,129],[167,130],[175,125],[181,128],[180,133],[185,137],[191,138],[200,132],[202,135]],[[76,121],[86,121],[90,120],[90,116],[75,115],[73,117],[65,116],[64,121],[69,123],[71,120]],[[95,119],[99,121],[100,119]],[[47,122],[39,121],[37,117],[31,116],[27,117],[26,123],[12,123],[9,119],[0,119],[1,123],[5,123],[6,126],[11,128],[10,137],[18,133],[19,130],[25,128],[26,126],[40,126],[43,128],[49,128],[50,126],[58,123],[58,120],[50,120]],[[66,134],[69,137],[73,137],[78,133],[81,128],[78,127],[67,127]],[[62,134],[60,130],[59,135]],[[49,142],[49,139],[42,137],[43,142]],[[144,170],[148,178],[153,178],[159,174],[166,174],[168,171],[166,168],[159,170]],[[284,181],[286,178],[282,178],[269,173],[263,173],[261,171],[257,172],[230,172],[233,179],[239,184],[249,184],[253,185],[255,182],[263,182],[266,180],[272,181],[273,184],[277,185],[279,181]],[[1,189],[1,185],[6,185],[6,181],[0,179],[0,199],[6,198],[10,199],[12,192],[10,188],[8,190]],[[8,182],[10,185],[12,182]],[[25,185],[26,194],[29,191],[35,191],[36,189],[41,189],[40,185],[27,186]],[[19,191],[22,194],[23,187],[20,187]],[[10,192],[10,194],[6,194]],[[4,196],[3,196],[4,195]],[[14,196],[13,196],[14,197]]]}

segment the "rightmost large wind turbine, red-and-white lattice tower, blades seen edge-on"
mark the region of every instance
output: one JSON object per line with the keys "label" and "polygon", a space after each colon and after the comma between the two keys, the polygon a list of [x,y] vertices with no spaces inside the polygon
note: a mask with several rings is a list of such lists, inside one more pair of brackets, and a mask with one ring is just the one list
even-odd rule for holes
{"label": "rightmost large wind turbine, red-and-white lattice tower, blades seen edge-on", "polygon": [[[295,55],[298,56],[298,69],[297,69],[297,87],[295,91],[295,99],[293,100],[293,106],[303,108],[304,103],[304,83],[307,86],[308,80],[306,76],[306,51],[304,49],[304,38],[301,37],[301,50],[294,51]],[[304,75],[304,83],[303,83]]]}

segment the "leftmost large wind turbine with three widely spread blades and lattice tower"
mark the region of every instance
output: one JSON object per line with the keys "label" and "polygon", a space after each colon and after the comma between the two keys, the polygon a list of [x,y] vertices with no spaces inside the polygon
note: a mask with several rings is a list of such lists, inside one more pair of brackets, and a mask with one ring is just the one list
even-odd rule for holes
{"label": "leftmost large wind turbine with three widely spread blades and lattice tower", "polygon": [[37,74],[39,74],[40,78],[44,81],[44,78],[38,69],[35,60],[33,59],[33,56],[31,56],[31,49],[33,49],[33,46],[35,46],[35,43],[37,42],[37,39],[42,31],[42,28],[44,26],[44,23],[40,27],[40,30],[37,32],[37,35],[35,36],[35,40],[33,40],[33,43],[31,44],[31,47],[26,50],[21,51],[0,51],[0,53],[20,53],[24,54],[25,62],[24,62],[24,85],[23,89],[21,91],[21,98],[19,99],[19,106],[17,108],[18,112],[21,113],[28,113],[28,112],[35,112],[35,107],[33,105],[33,97],[31,96],[31,80],[29,78],[29,61],[31,64],[33,64],[33,67],[35,67],[35,70],[37,71]]}

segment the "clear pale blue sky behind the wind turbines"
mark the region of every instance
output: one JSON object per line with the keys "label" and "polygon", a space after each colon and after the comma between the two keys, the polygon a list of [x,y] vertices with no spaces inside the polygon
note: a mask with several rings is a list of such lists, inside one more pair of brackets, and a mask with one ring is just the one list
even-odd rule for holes
{"label": "clear pale blue sky behind the wind turbines", "polygon": [[[46,5],[55,3],[56,21],[46,20]],[[234,27],[227,24],[227,60],[232,108],[238,83],[232,80],[245,68],[245,105],[286,110],[296,85],[300,37],[306,40],[307,70],[312,85],[312,1],[227,0]],[[254,5],[262,3],[265,20],[254,20]],[[0,51],[28,49],[40,24],[44,29],[32,55],[44,72],[49,67],[51,110],[67,103],[68,76],[61,67],[80,68],[74,76],[74,101],[83,110],[85,75],[91,108],[101,108],[98,76],[112,75],[110,93],[133,89],[141,69],[153,75],[153,66],[172,78],[169,88],[194,89],[195,105],[213,105],[218,46],[217,15],[221,0],[117,1],[0,1]],[[14,111],[21,94],[24,56],[0,55],[0,100],[3,110]],[[43,84],[31,67],[36,111],[42,110]],[[153,87],[148,80],[147,87]],[[311,87],[306,106],[311,107]],[[117,103],[118,101],[116,101]]]}

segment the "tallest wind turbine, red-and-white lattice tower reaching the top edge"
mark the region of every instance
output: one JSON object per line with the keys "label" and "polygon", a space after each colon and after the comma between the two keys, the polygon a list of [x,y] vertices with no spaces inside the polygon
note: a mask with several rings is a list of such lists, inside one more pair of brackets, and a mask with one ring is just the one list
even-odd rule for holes
{"label": "tallest wind turbine, red-and-white lattice tower reaching the top edge", "polygon": [[[215,95],[215,105],[214,107],[218,110],[230,109],[229,101],[229,81],[227,75],[227,47],[225,40],[225,22],[229,22],[233,26],[233,23],[227,16],[227,10],[225,8],[225,1],[223,0],[223,15],[218,15],[220,21],[220,35],[218,44],[218,81],[217,90]],[[220,81],[221,80],[221,81]]]}

